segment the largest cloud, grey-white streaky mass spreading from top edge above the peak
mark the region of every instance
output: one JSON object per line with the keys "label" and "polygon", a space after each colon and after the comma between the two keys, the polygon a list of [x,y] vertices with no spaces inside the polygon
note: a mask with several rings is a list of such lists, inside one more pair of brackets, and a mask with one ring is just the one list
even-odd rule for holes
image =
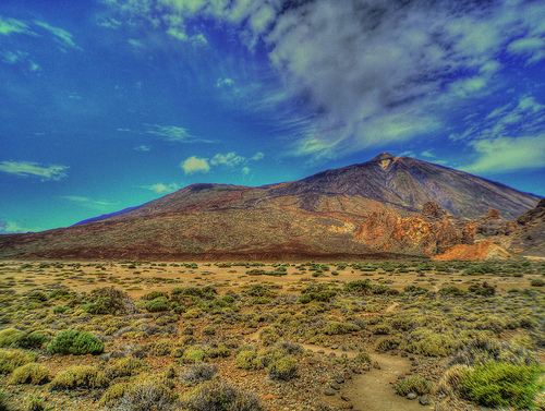
{"label": "largest cloud, grey-white streaky mass spreading from top edge above the peak", "polygon": [[[522,65],[545,58],[540,1],[108,3],[184,41],[187,27],[204,17],[234,26],[249,47],[264,43],[283,86],[253,108],[303,101],[308,116],[295,116],[290,107],[286,130],[294,140],[293,155],[315,158],[445,130],[452,107],[507,87],[506,56]],[[219,77],[216,86],[226,98],[255,92],[231,77]]]}

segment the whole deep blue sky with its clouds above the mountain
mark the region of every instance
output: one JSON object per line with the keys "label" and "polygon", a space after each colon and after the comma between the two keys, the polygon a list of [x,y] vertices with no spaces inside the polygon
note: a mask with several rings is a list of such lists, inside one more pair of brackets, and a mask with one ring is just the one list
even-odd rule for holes
{"label": "whole deep blue sky with its clouds above the mountain", "polygon": [[0,233],[382,152],[545,196],[545,3],[3,0]]}

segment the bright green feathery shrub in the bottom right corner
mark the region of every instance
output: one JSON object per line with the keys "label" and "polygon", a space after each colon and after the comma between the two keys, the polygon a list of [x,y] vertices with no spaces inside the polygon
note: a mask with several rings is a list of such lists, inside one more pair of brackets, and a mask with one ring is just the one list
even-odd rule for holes
{"label": "bright green feathery shrub in the bottom right corner", "polygon": [[538,366],[488,362],[462,374],[461,392],[480,406],[533,409],[536,394],[545,388],[542,373]]}

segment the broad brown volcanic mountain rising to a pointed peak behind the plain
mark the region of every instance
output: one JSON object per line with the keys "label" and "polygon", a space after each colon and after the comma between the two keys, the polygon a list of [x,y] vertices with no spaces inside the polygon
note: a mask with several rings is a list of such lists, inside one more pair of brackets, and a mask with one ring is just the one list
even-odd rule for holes
{"label": "broad brown volcanic mountain rising to a pointed peak behind the plain", "polygon": [[[259,188],[194,184],[64,229],[0,237],[0,257],[310,258],[435,255],[512,219],[541,197],[387,153]],[[498,217],[499,218],[499,217]]]}

